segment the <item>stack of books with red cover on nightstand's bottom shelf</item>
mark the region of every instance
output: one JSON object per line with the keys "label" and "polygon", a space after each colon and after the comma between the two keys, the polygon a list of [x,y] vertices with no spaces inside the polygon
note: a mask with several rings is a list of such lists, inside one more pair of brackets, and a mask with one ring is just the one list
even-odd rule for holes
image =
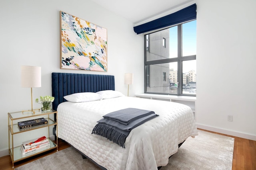
{"label": "stack of books with red cover on nightstand's bottom shelf", "polygon": [[21,145],[22,155],[33,154],[34,152],[38,152],[40,150],[49,149],[50,143],[49,139],[45,136],[32,139],[30,141],[23,142]]}

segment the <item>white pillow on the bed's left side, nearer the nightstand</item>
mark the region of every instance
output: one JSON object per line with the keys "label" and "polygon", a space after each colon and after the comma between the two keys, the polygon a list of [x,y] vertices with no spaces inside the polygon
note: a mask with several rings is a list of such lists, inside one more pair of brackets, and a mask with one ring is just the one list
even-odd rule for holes
{"label": "white pillow on the bed's left side, nearer the nightstand", "polygon": [[95,100],[102,100],[102,96],[100,94],[96,94],[93,92],[82,92],[82,93],[74,93],[67,96],[64,96],[64,99],[69,102],[90,102]]}

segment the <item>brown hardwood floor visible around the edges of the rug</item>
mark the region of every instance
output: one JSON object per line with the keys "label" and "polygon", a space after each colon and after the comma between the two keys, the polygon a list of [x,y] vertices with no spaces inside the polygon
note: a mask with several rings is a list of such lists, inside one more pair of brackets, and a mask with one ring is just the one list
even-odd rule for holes
{"label": "brown hardwood floor visible around the edges of the rug", "polygon": [[[203,129],[200,129],[200,130],[203,130]],[[211,131],[208,131],[208,132],[211,132]],[[224,135],[221,133],[216,133],[216,134]],[[230,135],[225,135],[225,136],[233,137],[235,139],[232,170],[256,170],[256,141],[252,141],[252,140],[248,140],[240,137],[234,137]],[[70,147],[70,145],[68,145],[67,143],[61,140],[58,140],[58,145],[59,145],[58,150],[62,150]],[[33,156],[31,158],[22,160],[20,162],[16,162],[14,163],[14,167],[16,168],[28,162],[32,162],[33,160],[42,158],[54,152],[56,152],[56,149],[50,150],[48,152],[45,152],[37,156]],[[9,155],[0,157],[0,169],[13,170],[12,161]]]}

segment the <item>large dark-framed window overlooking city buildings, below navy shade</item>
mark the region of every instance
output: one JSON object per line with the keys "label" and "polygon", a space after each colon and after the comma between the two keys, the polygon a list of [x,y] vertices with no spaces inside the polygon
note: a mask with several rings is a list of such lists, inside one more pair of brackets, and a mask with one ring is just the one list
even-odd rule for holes
{"label": "large dark-framed window overlooking city buildings, below navy shade", "polygon": [[145,69],[146,93],[196,96],[196,20],[146,34]]}

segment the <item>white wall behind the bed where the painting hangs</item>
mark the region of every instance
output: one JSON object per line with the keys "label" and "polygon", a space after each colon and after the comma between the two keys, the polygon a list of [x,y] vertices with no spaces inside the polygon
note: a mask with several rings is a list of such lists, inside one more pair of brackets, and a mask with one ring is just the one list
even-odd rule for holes
{"label": "white wall behind the bed where the painting hangs", "polygon": [[[60,69],[60,10],[107,29],[108,72]],[[0,23],[0,156],[8,149],[7,113],[31,109],[30,88],[20,85],[21,65],[42,67],[42,87],[33,88],[33,100],[52,94],[52,72],[114,75],[116,90],[125,95],[124,73],[131,72],[129,96],[144,92],[143,35],[90,0],[1,0]]]}

